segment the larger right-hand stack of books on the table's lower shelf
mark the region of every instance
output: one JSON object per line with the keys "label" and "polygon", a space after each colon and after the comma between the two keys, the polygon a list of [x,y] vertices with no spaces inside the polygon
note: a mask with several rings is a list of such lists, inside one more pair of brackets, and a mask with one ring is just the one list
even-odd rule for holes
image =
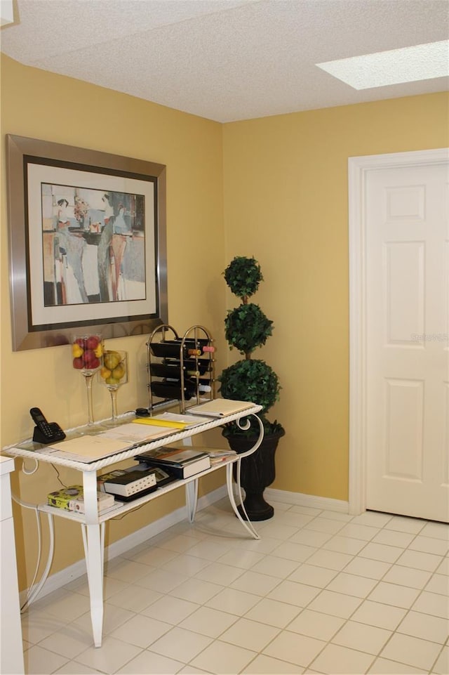
{"label": "larger right-hand stack of books on the table's lower shelf", "polygon": [[190,478],[210,468],[207,452],[185,447],[158,447],[138,454],[135,459],[147,466],[160,466],[176,478]]}

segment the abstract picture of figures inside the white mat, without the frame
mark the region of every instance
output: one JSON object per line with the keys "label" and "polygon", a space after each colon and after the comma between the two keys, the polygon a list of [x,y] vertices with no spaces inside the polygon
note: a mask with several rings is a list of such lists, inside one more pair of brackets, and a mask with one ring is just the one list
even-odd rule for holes
{"label": "abstract picture of figures inside the white mat, without the frame", "polygon": [[43,303],[144,300],[145,195],[41,183]]}

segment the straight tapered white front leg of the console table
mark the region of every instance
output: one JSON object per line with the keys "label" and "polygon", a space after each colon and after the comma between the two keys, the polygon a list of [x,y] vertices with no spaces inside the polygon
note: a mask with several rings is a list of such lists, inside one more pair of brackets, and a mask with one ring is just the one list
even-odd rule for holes
{"label": "straight tapered white front leg of the console table", "polygon": [[91,599],[91,621],[95,647],[101,647],[103,629],[103,563],[105,527],[98,522],[97,474],[83,473],[86,524],[82,525],[84,553]]}

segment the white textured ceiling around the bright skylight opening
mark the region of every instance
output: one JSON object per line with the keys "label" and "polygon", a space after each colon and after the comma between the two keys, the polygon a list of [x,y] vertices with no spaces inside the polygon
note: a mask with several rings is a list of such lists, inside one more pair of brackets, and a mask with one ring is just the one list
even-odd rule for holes
{"label": "white textured ceiling around the bright skylight opening", "polygon": [[1,51],[231,122],[447,91],[440,77],[355,91],[316,67],[449,37],[448,0],[17,0]]}

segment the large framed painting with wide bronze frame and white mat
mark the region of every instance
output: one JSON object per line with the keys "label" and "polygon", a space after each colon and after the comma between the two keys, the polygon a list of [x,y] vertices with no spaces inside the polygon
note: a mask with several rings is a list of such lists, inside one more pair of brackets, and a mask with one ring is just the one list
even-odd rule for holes
{"label": "large framed painting with wide bronze frame and white mat", "polygon": [[166,166],[6,138],[13,350],[168,322]]}

